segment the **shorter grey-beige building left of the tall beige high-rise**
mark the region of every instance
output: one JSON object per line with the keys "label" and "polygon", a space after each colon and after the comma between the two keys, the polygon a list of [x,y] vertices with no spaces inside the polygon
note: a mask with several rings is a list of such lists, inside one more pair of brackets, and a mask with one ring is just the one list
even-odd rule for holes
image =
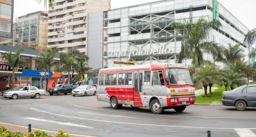
{"label": "shorter grey-beige building left of the tall beige high-rise", "polygon": [[39,11],[18,17],[14,27],[15,45],[45,50],[47,48],[48,12]]}

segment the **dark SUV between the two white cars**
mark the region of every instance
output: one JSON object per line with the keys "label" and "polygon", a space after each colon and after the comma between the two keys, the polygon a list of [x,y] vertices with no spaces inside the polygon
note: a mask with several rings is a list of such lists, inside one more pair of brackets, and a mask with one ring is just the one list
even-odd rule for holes
{"label": "dark SUV between the two white cars", "polygon": [[51,96],[53,96],[53,94],[67,95],[68,93],[71,93],[72,90],[73,90],[73,86],[71,84],[57,84],[55,85],[55,87],[52,87],[49,89],[49,93]]}

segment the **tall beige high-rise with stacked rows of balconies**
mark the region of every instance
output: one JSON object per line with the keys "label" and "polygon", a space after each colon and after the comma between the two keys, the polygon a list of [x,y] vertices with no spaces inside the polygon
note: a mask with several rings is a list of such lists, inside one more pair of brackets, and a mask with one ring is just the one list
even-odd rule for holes
{"label": "tall beige high-rise with stacked rows of balconies", "polygon": [[[76,49],[87,54],[89,14],[109,9],[110,0],[56,0],[53,8],[49,10],[48,47],[56,47],[60,52]],[[97,28],[97,25],[94,27]],[[100,41],[100,37],[98,38],[97,41]],[[89,67],[98,67],[98,65],[89,65]]]}

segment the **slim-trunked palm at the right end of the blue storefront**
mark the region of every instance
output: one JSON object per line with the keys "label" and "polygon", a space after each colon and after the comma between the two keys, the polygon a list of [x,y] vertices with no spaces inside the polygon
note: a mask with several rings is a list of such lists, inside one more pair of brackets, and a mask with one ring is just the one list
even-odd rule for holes
{"label": "slim-trunked palm at the right end of the blue storefront", "polygon": [[38,66],[40,69],[44,70],[44,89],[46,89],[46,71],[51,71],[51,67],[55,65],[55,56],[57,54],[56,50],[51,48],[47,49],[47,52],[40,52],[38,57]]}

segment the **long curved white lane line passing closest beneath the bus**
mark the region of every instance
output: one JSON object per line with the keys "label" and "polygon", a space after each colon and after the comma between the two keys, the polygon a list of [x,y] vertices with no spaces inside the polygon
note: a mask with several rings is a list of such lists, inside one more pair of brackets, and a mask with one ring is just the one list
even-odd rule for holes
{"label": "long curved white lane line passing closest beneath the bus", "polygon": [[241,118],[241,117],[221,117],[221,116],[175,116],[175,115],[166,115],[166,114],[161,114],[161,115],[156,115],[156,114],[143,114],[143,113],[136,113],[136,112],[120,112],[118,110],[116,111],[111,111],[111,110],[105,110],[105,109],[97,109],[93,107],[84,107],[81,105],[73,105],[75,107],[82,107],[86,109],[94,109],[94,110],[99,110],[103,112],[115,112],[115,113],[122,113],[122,114],[138,114],[138,115],[149,115],[149,116],[170,116],[170,117],[181,117],[181,118],[220,118],[220,119],[256,119],[256,118]]}

